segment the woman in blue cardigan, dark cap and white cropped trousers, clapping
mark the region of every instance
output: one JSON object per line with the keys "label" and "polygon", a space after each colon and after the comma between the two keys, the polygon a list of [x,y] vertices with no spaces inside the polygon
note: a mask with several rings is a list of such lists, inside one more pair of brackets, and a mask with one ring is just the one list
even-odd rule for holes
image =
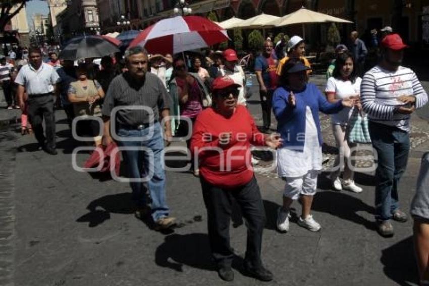
{"label": "woman in blue cardigan, dark cap and white cropped trousers, clapping", "polygon": [[288,60],[280,75],[281,86],[273,97],[277,130],[283,139],[283,147],[277,150],[277,168],[279,176],[286,179],[276,223],[283,232],[289,230],[290,206],[300,197],[302,214],[298,225],[310,231],[320,230],[320,224],[310,215],[322,163],[318,113],[333,114],[354,104],[350,98],[329,103],[316,85],[306,82],[308,69],[301,60]]}

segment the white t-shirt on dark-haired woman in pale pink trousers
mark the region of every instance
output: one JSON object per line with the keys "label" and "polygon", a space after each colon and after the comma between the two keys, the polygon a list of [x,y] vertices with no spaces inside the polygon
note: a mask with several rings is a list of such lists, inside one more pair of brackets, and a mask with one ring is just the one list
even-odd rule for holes
{"label": "white t-shirt on dark-haired woman in pale pink trousers", "polygon": [[[362,79],[357,77],[354,82],[344,81],[335,77],[330,77],[326,84],[326,92],[335,92],[335,99],[344,99],[346,97],[360,94],[360,83]],[[352,114],[352,108],[345,107],[340,112],[331,115],[331,122],[334,125],[347,125]]]}

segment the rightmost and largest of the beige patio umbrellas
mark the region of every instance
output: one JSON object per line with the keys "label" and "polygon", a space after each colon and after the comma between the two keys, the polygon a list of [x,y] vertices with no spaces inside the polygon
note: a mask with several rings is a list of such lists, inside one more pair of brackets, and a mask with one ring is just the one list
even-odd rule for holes
{"label": "rightmost and largest of the beige patio umbrellas", "polygon": [[270,24],[280,27],[294,24],[302,24],[302,35],[305,37],[304,24],[307,23],[326,23],[326,22],[335,22],[335,23],[347,23],[353,24],[353,22],[333,16],[329,16],[327,14],[315,12],[312,10],[305,9],[302,7],[301,9],[283,16],[282,18],[271,22]]}

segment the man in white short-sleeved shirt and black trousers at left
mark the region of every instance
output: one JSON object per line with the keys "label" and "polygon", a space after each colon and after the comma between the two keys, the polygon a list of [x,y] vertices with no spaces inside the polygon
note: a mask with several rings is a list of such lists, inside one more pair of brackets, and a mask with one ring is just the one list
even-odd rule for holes
{"label": "man in white short-sleeved shirt and black trousers at left", "polygon": [[[46,153],[56,155],[53,106],[55,104],[55,89],[60,77],[53,67],[42,63],[42,55],[39,49],[30,49],[29,58],[29,64],[20,69],[15,79],[18,84],[19,105],[21,109],[24,108],[24,91],[26,91],[28,94],[27,112],[34,135]],[[46,137],[43,134],[43,117]]]}

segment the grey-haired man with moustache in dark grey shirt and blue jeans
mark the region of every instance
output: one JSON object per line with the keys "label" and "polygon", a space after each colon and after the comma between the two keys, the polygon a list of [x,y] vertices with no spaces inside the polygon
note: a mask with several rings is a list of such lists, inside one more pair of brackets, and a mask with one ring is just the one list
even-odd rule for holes
{"label": "grey-haired man with moustache in dark grey shirt and blue jeans", "polygon": [[[164,83],[156,75],[147,72],[148,57],[144,49],[136,46],[127,50],[125,61],[128,70],[112,81],[101,110],[105,145],[112,142],[110,126],[115,121],[119,145],[134,148],[124,150],[122,154],[127,162],[129,177],[137,180],[131,182],[136,216],[143,218],[149,212],[154,229],[166,229],[173,226],[175,221],[170,216],[166,202],[166,175],[163,168],[162,132],[165,132],[167,140],[171,140],[170,120],[167,119],[170,116],[170,96]],[[122,109],[111,118],[113,109],[118,106]],[[160,125],[163,119],[165,126]],[[152,135],[149,137],[150,134]],[[135,140],[136,137],[141,140]],[[144,152],[142,148],[149,149],[151,154]],[[142,182],[146,175],[151,175],[147,184]],[[146,190],[151,199],[150,210]]]}

